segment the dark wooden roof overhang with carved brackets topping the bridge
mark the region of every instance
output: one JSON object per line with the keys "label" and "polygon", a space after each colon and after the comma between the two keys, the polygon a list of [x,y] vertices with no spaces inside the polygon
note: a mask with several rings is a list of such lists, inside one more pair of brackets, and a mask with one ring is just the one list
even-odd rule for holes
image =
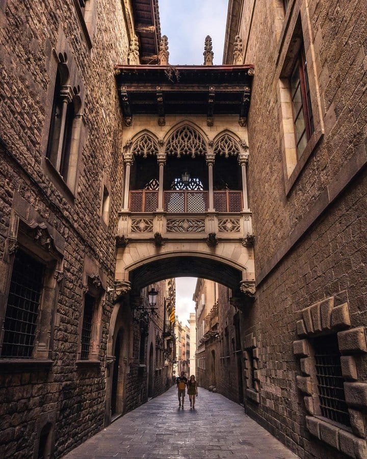
{"label": "dark wooden roof overhang with carved brackets topping the bridge", "polygon": [[253,65],[117,65],[116,80],[126,125],[134,115],[238,115],[245,125]]}

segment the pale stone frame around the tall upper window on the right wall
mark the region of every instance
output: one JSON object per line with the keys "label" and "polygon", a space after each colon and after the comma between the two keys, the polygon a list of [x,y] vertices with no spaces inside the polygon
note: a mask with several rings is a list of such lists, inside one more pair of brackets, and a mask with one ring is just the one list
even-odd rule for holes
{"label": "pale stone frame around the tall upper window on the right wall", "polygon": [[[306,21],[308,6],[289,3],[286,21],[279,38],[277,71],[277,104],[279,111],[279,135],[282,152],[285,194],[288,195],[300,176],[308,158],[317,149],[324,135],[324,121],[321,116],[320,87],[315,66],[313,33]],[[304,52],[302,51],[304,48]],[[303,54],[303,56],[302,56]],[[307,62],[307,78],[300,62]],[[297,67],[303,73],[302,93],[305,111],[307,142],[298,154],[292,106],[291,77]],[[311,116],[312,113],[312,116]],[[312,126],[313,122],[313,126]]]}

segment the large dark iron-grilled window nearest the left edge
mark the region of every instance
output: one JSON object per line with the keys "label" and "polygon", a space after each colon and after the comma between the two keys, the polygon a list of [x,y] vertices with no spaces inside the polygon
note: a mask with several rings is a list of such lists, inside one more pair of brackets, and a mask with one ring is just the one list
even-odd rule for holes
{"label": "large dark iron-grilled window nearest the left edge", "polygon": [[15,254],[4,318],[2,358],[32,357],[44,266],[22,250]]}

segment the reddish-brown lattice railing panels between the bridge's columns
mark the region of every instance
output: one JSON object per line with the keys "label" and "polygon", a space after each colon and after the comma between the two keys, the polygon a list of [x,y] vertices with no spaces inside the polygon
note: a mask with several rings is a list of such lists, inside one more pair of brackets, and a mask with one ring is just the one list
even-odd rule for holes
{"label": "reddish-brown lattice railing panels between the bridge's columns", "polygon": [[[220,190],[213,192],[217,212],[238,213],[243,208],[242,191]],[[207,191],[164,191],[164,210],[168,213],[200,214],[208,210]],[[130,212],[155,212],[158,208],[158,191],[130,191]]]}

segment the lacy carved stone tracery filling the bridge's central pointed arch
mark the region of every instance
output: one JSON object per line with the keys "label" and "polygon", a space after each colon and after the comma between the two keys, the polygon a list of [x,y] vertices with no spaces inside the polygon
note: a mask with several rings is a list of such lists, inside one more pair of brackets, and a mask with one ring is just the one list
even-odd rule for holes
{"label": "lacy carved stone tracery filling the bridge's central pointed arch", "polygon": [[201,135],[191,126],[185,124],[179,127],[168,139],[166,145],[168,155],[205,155],[206,145]]}

